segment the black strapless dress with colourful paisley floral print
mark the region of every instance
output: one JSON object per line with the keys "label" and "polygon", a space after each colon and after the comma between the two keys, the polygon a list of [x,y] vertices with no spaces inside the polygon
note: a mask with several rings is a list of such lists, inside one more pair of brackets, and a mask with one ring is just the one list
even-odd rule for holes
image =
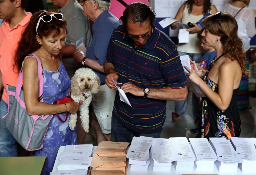
{"label": "black strapless dress with colourful paisley floral print", "polygon": [[[208,87],[218,93],[218,85],[207,78],[208,71],[204,81]],[[241,132],[241,120],[237,107],[237,93],[239,88],[233,90],[233,95],[228,108],[221,111],[207,97],[202,98],[202,123],[201,134],[203,138],[210,137],[239,137]]]}

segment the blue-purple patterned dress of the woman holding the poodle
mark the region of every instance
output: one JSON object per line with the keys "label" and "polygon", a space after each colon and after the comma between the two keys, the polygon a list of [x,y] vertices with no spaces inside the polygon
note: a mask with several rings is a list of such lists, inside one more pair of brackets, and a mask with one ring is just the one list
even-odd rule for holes
{"label": "blue-purple patterned dress of the woman holding the poodle", "polygon": [[[53,104],[54,101],[68,95],[71,81],[62,61],[56,72],[43,69],[43,75],[43,96],[45,103]],[[62,120],[66,117],[62,113],[59,116]],[[68,121],[69,118],[66,122],[62,123],[56,115],[53,115],[43,141],[44,147],[35,151],[36,156],[46,156],[46,163],[42,174],[49,175],[52,171],[60,146],[77,144],[76,128],[72,131],[68,127]]]}

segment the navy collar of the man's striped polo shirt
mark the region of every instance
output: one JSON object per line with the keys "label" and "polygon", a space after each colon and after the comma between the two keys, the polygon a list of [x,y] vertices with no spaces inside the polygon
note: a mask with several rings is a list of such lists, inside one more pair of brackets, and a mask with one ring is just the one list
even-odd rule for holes
{"label": "navy collar of the man's striped polo shirt", "polygon": [[[160,31],[153,24],[153,33],[152,33],[152,35],[150,36],[150,38],[148,38],[146,44],[142,45],[141,47],[144,48],[144,49],[148,49],[148,50],[154,50],[159,37],[160,37]],[[130,40],[131,42],[133,42],[132,39],[128,36],[127,31],[124,33],[123,39],[126,40],[126,41]]]}

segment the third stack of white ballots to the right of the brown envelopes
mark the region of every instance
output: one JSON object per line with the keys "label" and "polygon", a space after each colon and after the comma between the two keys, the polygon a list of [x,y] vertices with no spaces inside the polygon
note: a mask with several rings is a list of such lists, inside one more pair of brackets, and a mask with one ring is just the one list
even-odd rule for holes
{"label": "third stack of white ballots to the right of the brown envelopes", "polygon": [[174,155],[177,157],[174,165],[176,171],[193,171],[196,157],[186,137],[169,138],[173,147]]}

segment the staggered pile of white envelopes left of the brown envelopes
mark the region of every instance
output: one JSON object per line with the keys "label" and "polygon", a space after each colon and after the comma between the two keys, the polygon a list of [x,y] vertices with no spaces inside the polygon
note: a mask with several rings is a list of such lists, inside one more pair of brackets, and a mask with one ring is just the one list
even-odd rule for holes
{"label": "staggered pile of white envelopes left of the brown envelopes", "polygon": [[85,170],[87,172],[92,162],[92,148],[93,145],[67,145],[60,154],[58,171]]}

